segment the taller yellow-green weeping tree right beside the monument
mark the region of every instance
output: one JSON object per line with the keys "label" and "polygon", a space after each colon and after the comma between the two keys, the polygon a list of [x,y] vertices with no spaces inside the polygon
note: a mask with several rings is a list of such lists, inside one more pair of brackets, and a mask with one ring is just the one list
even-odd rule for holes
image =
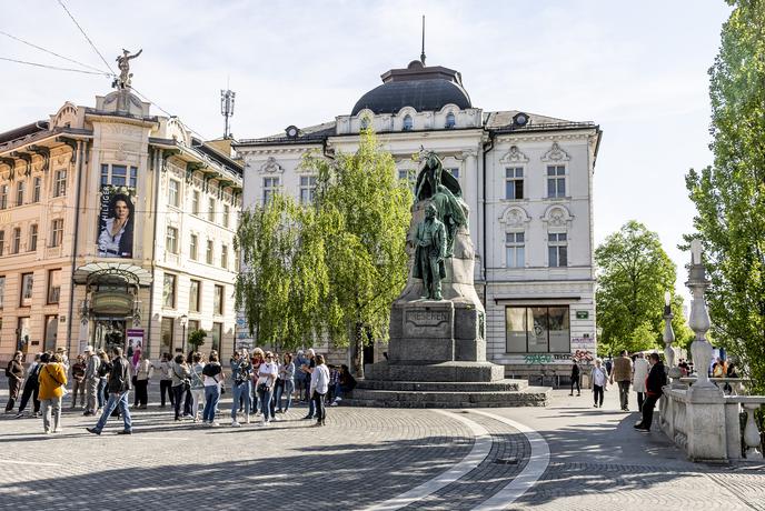
{"label": "taller yellow-green weeping tree right beside the monument", "polygon": [[304,167],[317,176],[328,278],[322,322],[334,345],[352,348],[354,369],[362,374],[362,348],[387,340],[390,304],[406,284],[411,192],[370,131],[356,152],[311,156]]}

